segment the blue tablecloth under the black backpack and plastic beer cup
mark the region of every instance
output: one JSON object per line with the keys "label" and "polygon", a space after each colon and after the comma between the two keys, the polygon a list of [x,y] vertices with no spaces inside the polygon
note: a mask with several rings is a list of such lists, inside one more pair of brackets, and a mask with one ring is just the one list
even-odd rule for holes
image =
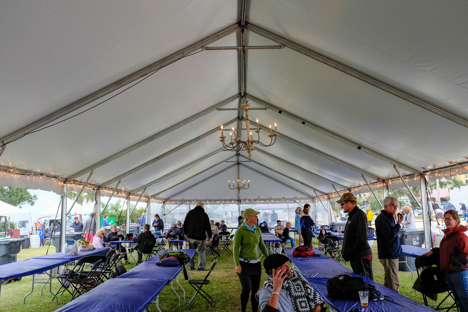
{"label": "blue tablecloth under the black backpack and plastic beer cup", "polygon": [[327,256],[322,254],[319,250],[314,249],[314,253],[320,254],[320,257],[308,257],[300,258],[293,257],[292,251],[294,248],[284,248],[286,256],[294,264],[294,267],[306,277],[307,281],[314,287],[315,290],[322,296],[323,300],[327,301],[332,305],[338,312],[348,312],[352,309],[358,308],[362,312],[379,311],[379,312],[394,312],[394,311],[412,311],[412,312],[426,312],[432,311],[431,308],[422,305],[414,300],[409,299],[399,293],[390,290],[379,283],[376,283],[364,276],[360,276],[366,283],[372,284],[380,291],[382,295],[391,297],[394,302],[389,299],[379,301],[371,301],[366,307],[362,307],[359,299],[339,299],[327,297],[327,281],[330,277],[339,274],[348,274],[350,276],[359,276],[354,274],[351,269],[346,268],[341,263],[329,259]]}

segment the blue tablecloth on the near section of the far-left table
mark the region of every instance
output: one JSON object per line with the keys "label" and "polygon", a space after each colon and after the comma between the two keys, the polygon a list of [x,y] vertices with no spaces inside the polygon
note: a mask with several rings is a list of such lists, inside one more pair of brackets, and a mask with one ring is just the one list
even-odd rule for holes
{"label": "blue tablecloth on the near section of the far-left table", "polygon": [[31,258],[23,261],[7,263],[0,266],[0,279],[17,278],[42,273],[69,262],[68,259]]}

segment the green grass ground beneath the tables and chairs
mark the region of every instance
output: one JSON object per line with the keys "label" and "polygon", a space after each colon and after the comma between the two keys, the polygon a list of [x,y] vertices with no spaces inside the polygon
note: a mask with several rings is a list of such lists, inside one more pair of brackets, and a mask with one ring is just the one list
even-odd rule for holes
{"label": "green grass ground beneath the tables and chairs", "polygon": [[[289,244],[288,244],[289,245]],[[44,255],[46,253],[48,245],[45,248],[35,248],[35,249],[25,249],[18,254],[18,261],[35,257],[38,255]],[[383,268],[380,265],[380,262],[377,260],[377,244],[374,242],[373,246],[374,261],[373,261],[373,275],[374,280],[377,283],[383,284]],[[51,246],[49,248],[49,254],[55,253],[55,247]],[[213,261],[213,257],[207,259],[207,268],[209,264]],[[132,261],[132,260],[131,260]],[[197,259],[196,262],[197,263]],[[349,267],[349,262],[346,263],[346,266]],[[125,265],[127,270],[130,270],[134,267],[134,263]],[[1,267],[0,267],[1,269]],[[190,271],[194,279],[203,279],[206,275],[206,272],[202,271]],[[178,306],[178,299],[173,293],[169,286],[165,287],[159,297],[159,306],[163,312],[168,311],[241,311],[240,306],[240,293],[241,285],[239,278],[237,277],[234,271],[234,262],[231,255],[224,254],[218,261],[216,267],[214,268],[212,274],[209,278],[212,283],[204,287],[209,294],[216,301],[216,306],[214,308],[209,305],[205,299],[200,296],[197,296],[195,301],[190,305],[189,309],[185,307],[190,301],[190,298],[193,296],[195,291],[190,287],[190,285],[183,279],[183,275],[179,275],[179,281],[182,284],[183,288],[186,291],[186,297],[182,300],[182,306]],[[262,281],[266,279],[265,273],[262,275]],[[423,297],[419,292],[415,292],[412,289],[413,283],[416,279],[411,278],[411,272],[400,272],[400,293],[406,297],[409,297],[417,302],[422,303]],[[150,286],[150,285],[149,285]],[[34,292],[26,298],[26,304],[22,304],[23,297],[31,290],[31,277],[25,276],[21,281],[11,282],[7,285],[1,286],[1,311],[4,312],[30,312],[30,311],[41,311],[41,312],[50,312],[55,311],[58,307],[65,305],[70,300],[70,295],[64,295],[59,297],[59,305],[55,305],[55,300],[52,301],[52,295],[48,292],[47,286],[44,287],[44,293],[41,296],[40,294],[41,285],[35,285]],[[59,282],[54,280],[52,282],[52,292],[56,292],[59,289]],[[176,291],[182,296],[182,291],[179,287],[175,286]],[[122,291],[125,291],[125,285],[122,284]],[[142,290],[143,291],[143,290]],[[111,295],[111,294],[110,294]],[[115,294],[112,294],[115,295]],[[439,296],[440,297],[440,296]],[[109,298],[102,298],[102,300],[111,300]],[[439,299],[440,300],[440,299]],[[429,299],[429,305],[431,307],[436,307],[439,302],[434,302]],[[250,303],[249,303],[250,304]],[[156,305],[152,304],[148,307],[149,312],[157,311]],[[247,311],[250,311],[250,306],[247,306]]]}

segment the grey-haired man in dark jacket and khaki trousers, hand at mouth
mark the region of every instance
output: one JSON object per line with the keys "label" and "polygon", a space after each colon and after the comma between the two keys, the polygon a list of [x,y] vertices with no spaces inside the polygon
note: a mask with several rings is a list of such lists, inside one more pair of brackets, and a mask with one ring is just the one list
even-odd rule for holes
{"label": "grey-haired man in dark jacket and khaki trousers, hand at mouth", "polygon": [[402,227],[403,216],[396,214],[398,211],[398,199],[396,197],[385,197],[383,207],[384,210],[375,218],[377,253],[385,272],[383,285],[391,290],[400,292],[398,258],[403,256],[403,250],[398,232]]}

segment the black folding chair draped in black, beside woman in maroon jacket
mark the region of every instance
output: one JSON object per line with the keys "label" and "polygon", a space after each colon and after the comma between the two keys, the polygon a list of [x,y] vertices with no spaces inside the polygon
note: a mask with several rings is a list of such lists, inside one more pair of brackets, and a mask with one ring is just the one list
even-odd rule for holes
{"label": "black folding chair draped in black, beside woman in maroon jacket", "polygon": [[[458,305],[453,297],[453,293],[448,287],[445,273],[442,273],[439,267],[432,267],[437,264],[437,259],[434,256],[427,257],[426,255],[419,256],[415,259],[414,264],[416,266],[417,278],[421,286],[421,294],[423,295],[424,305],[427,303],[427,294],[441,294],[447,292],[447,296],[440,301],[439,305],[435,310],[446,310],[449,311],[452,308],[456,308]],[[426,267],[426,268],[424,268]],[[448,297],[451,297],[454,301],[453,305],[441,307]]]}

